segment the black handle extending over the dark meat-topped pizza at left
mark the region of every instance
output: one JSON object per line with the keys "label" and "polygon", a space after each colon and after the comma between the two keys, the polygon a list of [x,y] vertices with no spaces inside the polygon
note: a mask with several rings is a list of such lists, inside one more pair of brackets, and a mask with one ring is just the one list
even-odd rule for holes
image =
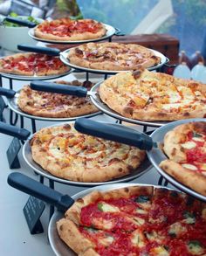
{"label": "black handle extending over the dark meat-topped pizza at left", "polygon": [[50,93],[63,93],[75,95],[78,97],[86,97],[87,89],[84,86],[66,86],[57,83],[45,82],[40,80],[32,81],[31,89],[36,91],[50,92]]}

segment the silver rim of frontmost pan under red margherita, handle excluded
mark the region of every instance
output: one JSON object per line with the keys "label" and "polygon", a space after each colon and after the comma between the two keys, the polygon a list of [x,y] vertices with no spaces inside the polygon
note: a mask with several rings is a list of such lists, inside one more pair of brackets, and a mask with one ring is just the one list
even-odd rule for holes
{"label": "silver rim of frontmost pan under red margherita, handle excluded", "polygon": [[[131,186],[153,186],[154,188],[165,188],[165,189],[171,190],[163,186],[156,186],[151,184],[140,184],[140,183],[106,184],[106,185],[98,186],[96,190],[100,190],[100,191],[116,190],[120,188],[131,187]],[[74,196],[72,196],[72,198],[74,200],[77,200],[79,197],[85,197],[87,194],[89,194],[93,190],[95,190],[95,188],[83,190],[75,194]],[[72,249],[70,249],[68,246],[66,246],[65,243],[58,236],[56,223],[60,218],[64,218],[64,214],[59,211],[55,211],[50,220],[49,227],[48,227],[48,237],[49,237],[50,245],[52,246],[53,252],[57,256],[75,256],[77,254],[74,253]]]}

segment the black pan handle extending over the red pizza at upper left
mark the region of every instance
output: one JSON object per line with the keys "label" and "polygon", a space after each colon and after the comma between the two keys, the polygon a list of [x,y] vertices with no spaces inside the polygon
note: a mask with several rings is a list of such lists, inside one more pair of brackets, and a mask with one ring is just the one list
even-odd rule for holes
{"label": "black pan handle extending over the red pizza at upper left", "polygon": [[17,49],[25,52],[38,52],[50,56],[58,56],[60,54],[60,50],[57,48],[42,46],[17,45]]}

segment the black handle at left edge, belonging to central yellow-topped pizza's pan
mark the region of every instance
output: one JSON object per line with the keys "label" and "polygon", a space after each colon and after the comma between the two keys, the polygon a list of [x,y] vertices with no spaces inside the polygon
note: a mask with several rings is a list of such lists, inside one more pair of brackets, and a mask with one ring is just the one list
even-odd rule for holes
{"label": "black handle at left edge, belonging to central yellow-topped pizza's pan", "polygon": [[16,126],[0,121],[0,133],[16,137],[19,140],[26,140],[31,135],[31,132],[24,128],[17,128]]}

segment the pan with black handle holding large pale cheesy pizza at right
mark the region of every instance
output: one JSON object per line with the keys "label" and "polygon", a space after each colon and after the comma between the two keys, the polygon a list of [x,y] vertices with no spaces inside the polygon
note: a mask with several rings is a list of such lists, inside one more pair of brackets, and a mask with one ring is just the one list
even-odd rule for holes
{"label": "pan with black handle holding large pale cheesy pizza at right", "polygon": [[148,125],[150,127],[160,127],[168,123],[168,121],[141,121],[141,120],[135,120],[131,118],[124,117],[120,115],[119,113],[113,111],[110,107],[108,107],[101,99],[100,99],[100,84],[102,81],[97,83],[92,87],[90,91],[87,91],[86,88],[82,86],[70,86],[69,88],[66,86],[61,86],[61,88],[54,83],[49,82],[43,82],[43,81],[32,81],[31,82],[31,88],[33,90],[38,91],[45,91],[45,92],[52,92],[52,93],[65,93],[70,95],[76,95],[79,97],[86,97],[87,95],[90,96],[91,101],[93,102],[93,105],[98,107],[102,112],[105,114],[108,114],[112,116],[113,118],[116,118],[118,120],[127,121],[134,124],[139,125]]}

